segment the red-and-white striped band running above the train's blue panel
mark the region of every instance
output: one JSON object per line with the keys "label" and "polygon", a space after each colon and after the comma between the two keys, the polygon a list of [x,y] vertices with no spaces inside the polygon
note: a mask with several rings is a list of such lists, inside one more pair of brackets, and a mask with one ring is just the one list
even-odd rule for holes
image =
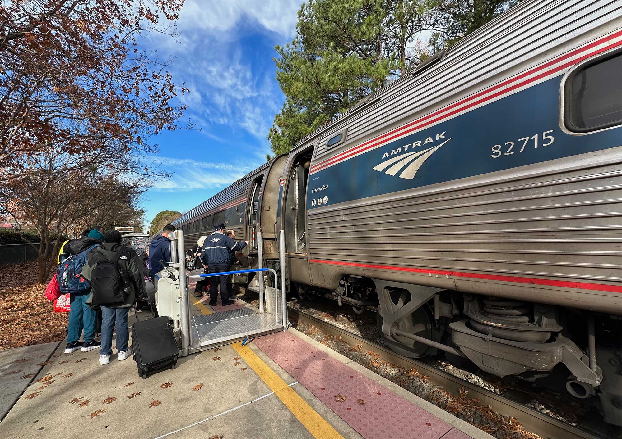
{"label": "red-and-white striped band running above the train's blue panel", "polygon": [[[447,107],[439,109],[438,111],[432,112],[428,115],[425,115],[424,117],[420,117],[419,119],[413,120],[412,122],[409,122],[406,125],[402,125],[401,127],[397,129],[381,134],[378,137],[368,140],[367,142],[363,142],[360,145],[357,145],[356,147],[350,148],[335,156],[319,161],[318,163],[315,163],[311,167],[310,174],[317,173],[318,171],[322,171],[332,165],[336,165],[337,163],[341,163],[342,161],[348,160],[348,158],[351,158],[352,156],[361,155],[362,153],[368,152],[369,150],[373,150],[375,148],[381,147],[385,145],[386,143],[390,142],[391,140],[404,137],[407,134],[412,134],[412,132],[424,129],[425,127],[428,127],[429,125],[434,125],[437,122],[440,122],[442,120],[452,119],[452,117],[455,117],[456,115],[461,114],[462,112],[469,111],[473,109],[473,107],[481,106],[482,104],[485,104],[488,101],[493,101],[496,98],[502,97],[503,95],[508,94],[512,91],[518,91],[519,89],[524,88],[528,86],[529,84],[541,81],[542,79],[547,78],[547,76],[555,75],[555,73],[559,73],[560,71],[565,70],[566,68],[569,68],[573,65],[576,65],[587,58],[593,57],[595,55],[598,55],[599,53],[606,52],[607,50],[610,50],[611,48],[615,48],[615,47],[622,45],[622,39],[618,39],[620,37],[622,37],[622,30],[617,30],[616,32],[613,32],[612,34],[607,35],[606,37],[599,38],[598,40],[595,40],[592,43],[585,45],[584,47],[570,50],[570,52],[565,53],[564,55],[560,55],[560,57],[557,57],[554,60],[547,61],[543,63],[542,65],[536,66],[532,68],[531,70],[524,71],[517,76],[513,76],[512,78],[506,79],[505,81],[495,84],[494,86],[491,86],[490,88],[480,91],[479,93],[473,94],[472,96],[465,97],[464,99],[454,102],[453,104],[450,104]],[[616,40],[616,39],[618,40],[611,43],[612,40]],[[603,46],[603,44],[608,43],[608,42],[610,43]],[[602,47],[599,47],[590,53],[577,57],[578,54],[583,53],[586,50],[590,50],[598,46],[602,46]],[[569,58],[570,58],[570,61],[557,65],[560,62],[565,61]],[[552,66],[555,66],[555,67],[551,68]],[[542,70],[545,70],[545,71],[542,71]],[[536,76],[531,76],[531,75],[534,75],[535,73],[538,73],[539,71],[542,71],[542,73],[539,73]],[[516,83],[516,81],[520,81],[521,79],[527,78],[529,76],[531,77],[528,79],[525,79],[524,81]],[[506,86],[512,83],[515,83],[515,84],[513,86],[506,88]],[[495,92],[495,93],[490,94],[491,92]],[[480,97],[481,99],[478,99]],[[477,100],[473,101],[474,99],[477,99]],[[467,104],[467,102],[470,102],[470,103]],[[450,110],[453,110],[453,111],[450,111]]]}

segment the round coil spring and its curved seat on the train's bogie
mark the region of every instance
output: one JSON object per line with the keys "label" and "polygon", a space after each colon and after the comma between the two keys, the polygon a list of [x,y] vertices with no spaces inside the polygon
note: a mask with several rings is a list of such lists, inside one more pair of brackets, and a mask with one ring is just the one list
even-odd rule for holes
{"label": "round coil spring and its curved seat on the train's bogie", "polygon": [[[484,316],[491,319],[491,323],[494,322],[495,325],[471,319],[471,327],[476,331],[516,342],[543,343],[549,340],[550,332],[516,328],[519,324],[529,322],[529,314],[531,313],[529,302],[493,298],[484,299],[483,302]],[[499,324],[505,327],[499,327]]]}

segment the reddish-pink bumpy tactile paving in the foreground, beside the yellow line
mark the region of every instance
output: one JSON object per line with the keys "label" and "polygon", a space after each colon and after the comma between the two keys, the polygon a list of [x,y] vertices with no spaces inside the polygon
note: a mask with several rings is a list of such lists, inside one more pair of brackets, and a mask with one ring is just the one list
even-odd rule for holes
{"label": "reddish-pink bumpy tactile paving in the foreground, beside the yellow line", "polygon": [[[254,343],[365,438],[440,439],[452,430],[448,423],[295,335],[279,332]],[[346,401],[335,401],[337,394]]]}

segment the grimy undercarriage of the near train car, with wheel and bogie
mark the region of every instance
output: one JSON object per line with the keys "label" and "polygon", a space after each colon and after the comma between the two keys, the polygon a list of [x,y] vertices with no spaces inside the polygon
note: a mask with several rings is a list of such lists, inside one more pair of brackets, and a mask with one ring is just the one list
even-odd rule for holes
{"label": "grimy undercarriage of the near train car, with wheel and bogie", "polygon": [[578,400],[596,398],[605,421],[622,424],[620,315],[359,276],[345,276],[335,291],[297,283],[291,289],[300,299],[332,293],[359,314],[378,307],[379,333],[400,355],[444,353],[499,377],[519,375]]}

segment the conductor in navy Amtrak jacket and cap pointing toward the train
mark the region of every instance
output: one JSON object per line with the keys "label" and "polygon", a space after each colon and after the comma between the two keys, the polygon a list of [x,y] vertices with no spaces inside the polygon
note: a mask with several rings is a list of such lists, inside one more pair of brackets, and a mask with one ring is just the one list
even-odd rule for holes
{"label": "conductor in navy Amtrak jacket and cap pointing toward the train", "polygon": [[[224,271],[228,271],[229,266],[231,265],[231,252],[242,250],[249,242],[235,242],[233,239],[225,235],[225,224],[216,224],[214,229],[216,231],[207,237],[203,243],[201,260],[203,261],[205,268],[207,268],[208,273],[223,273]],[[220,302],[223,305],[231,305],[233,301],[230,297],[233,292],[231,291],[231,281],[229,276],[211,276],[210,305],[216,306],[219,283]]]}

